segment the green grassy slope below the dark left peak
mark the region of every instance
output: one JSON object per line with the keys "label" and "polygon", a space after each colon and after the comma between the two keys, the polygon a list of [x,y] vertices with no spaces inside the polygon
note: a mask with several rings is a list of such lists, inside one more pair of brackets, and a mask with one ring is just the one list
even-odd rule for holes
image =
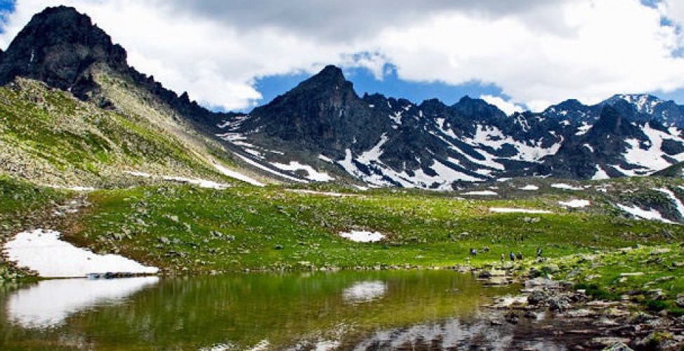
{"label": "green grassy slope below the dark left peak", "polygon": [[0,172],[44,184],[117,184],[122,170],[226,181],[178,138],[20,79],[0,87]]}

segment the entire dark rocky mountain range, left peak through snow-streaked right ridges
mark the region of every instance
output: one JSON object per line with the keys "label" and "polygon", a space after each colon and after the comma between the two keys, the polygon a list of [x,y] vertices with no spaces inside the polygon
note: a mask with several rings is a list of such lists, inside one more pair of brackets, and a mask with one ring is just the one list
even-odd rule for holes
{"label": "entire dark rocky mountain range, left peak through snow-streaked right ridges", "polygon": [[452,190],[514,177],[647,176],[684,161],[684,106],[652,95],[506,115],[469,97],[360,96],[327,66],[249,114],[212,112],[131,67],[124,48],[65,6],[34,15],[1,53],[0,84],[18,79],[142,121],[205,168],[230,166],[223,176]]}

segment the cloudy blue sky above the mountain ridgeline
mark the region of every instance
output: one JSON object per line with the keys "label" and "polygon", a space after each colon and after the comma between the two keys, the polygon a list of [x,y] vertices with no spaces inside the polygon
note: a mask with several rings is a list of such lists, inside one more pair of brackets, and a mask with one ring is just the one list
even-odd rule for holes
{"label": "cloudy blue sky above the mountain ridgeline", "polygon": [[249,111],[329,64],[360,95],[508,113],[615,93],[684,103],[682,0],[0,0],[0,48],[60,4],[213,110]]}

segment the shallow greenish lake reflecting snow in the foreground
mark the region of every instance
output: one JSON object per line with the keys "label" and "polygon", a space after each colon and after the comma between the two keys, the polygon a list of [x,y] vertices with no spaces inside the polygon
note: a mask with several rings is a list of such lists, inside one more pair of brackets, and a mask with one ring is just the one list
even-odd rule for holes
{"label": "shallow greenish lake reflecting snow in the foreground", "polygon": [[384,350],[505,340],[505,330],[480,318],[481,306],[519,286],[414,270],[59,279],[3,289],[1,350]]}

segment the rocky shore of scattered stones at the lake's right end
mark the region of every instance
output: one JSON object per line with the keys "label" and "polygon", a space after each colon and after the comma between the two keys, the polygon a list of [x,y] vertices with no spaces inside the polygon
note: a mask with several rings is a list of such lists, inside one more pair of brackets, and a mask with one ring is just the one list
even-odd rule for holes
{"label": "rocky shore of scattered stones at the lake's right end", "polygon": [[[481,273],[480,273],[481,274]],[[680,350],[684,317],[652,314],[630,300],[607,301],[570,282],[528,278],[517,296],[496,298],[489,323],[513,326],[521,342],[552,339],[568,350]]]}

